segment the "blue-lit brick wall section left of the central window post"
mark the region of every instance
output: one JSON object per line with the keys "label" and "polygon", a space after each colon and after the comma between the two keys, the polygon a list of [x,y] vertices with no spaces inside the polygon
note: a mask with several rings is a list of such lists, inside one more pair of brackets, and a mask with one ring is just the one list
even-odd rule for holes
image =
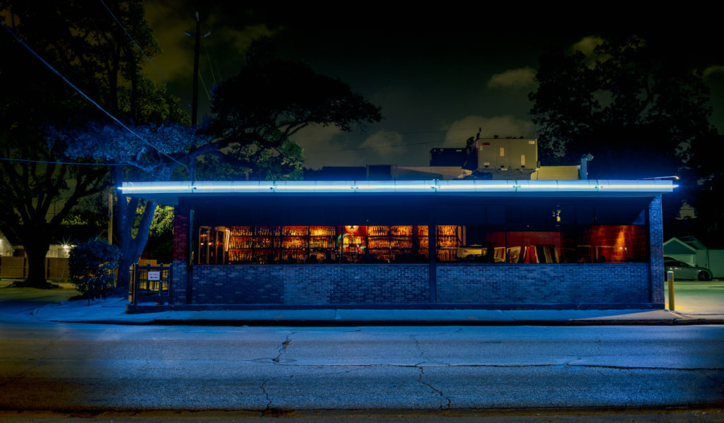
{"label": "blue-lit brick wall section left of the central window post", "polygon": [[195,265],[194,304],[427,304],[429,265]]}

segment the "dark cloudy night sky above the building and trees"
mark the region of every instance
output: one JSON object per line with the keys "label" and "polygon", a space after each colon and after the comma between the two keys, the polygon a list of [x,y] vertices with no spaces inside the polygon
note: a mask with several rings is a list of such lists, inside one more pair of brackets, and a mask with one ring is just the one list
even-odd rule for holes
{"label": "dark cloudy night sky above the building and trees", "polygon": [[[201,32],[211,31],[201,46],[200,114],[209,112],[204,91],[235,75],[251,40],[268,36],[279,55],[348,82],[382,107],[382,121],[364,132],[315,127],[293,137],[305,150],[307,167],[427,166],[431,148],[464,147],[478,128],[481,137],[536,137],[528,94],[536,89],[539,56],[590,52],[607,33],[625,29],[666,37],[672,54],[696,62],[712,90],[712,124],[724,133],[723,39],[714,26],[694,31],[679,22],[652,32],[636,21],[623,25],[601,16],[594,24],[463,6],[445,11],[364,7],[321,11],[244,9],[213,1],[199,5]],[[184,31],[193,32],[196,9],[190,1],[146,3],[148,21],[164,51],[153,62],[184,106],[190,105],[193,74],[193,39]],[[164,81],[150,64],[146,72]]]}

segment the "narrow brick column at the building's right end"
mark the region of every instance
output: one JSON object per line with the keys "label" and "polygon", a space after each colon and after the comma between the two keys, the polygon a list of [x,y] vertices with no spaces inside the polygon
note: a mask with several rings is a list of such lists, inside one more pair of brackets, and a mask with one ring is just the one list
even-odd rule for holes
{"label": "narrow brick column at the building's right end", "polygon": [[661,195],[649,203],[647,227],[649,234],[649,301],[663,306],[664,302],[664,225]]}

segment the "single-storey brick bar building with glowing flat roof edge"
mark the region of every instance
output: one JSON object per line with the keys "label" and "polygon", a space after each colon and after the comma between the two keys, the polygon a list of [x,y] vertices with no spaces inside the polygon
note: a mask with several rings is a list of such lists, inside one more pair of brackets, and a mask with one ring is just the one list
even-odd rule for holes
{"label": "single-storey brick bar building with glowing flat roof edge", "polygon": [[663,308],[656,180],[127,182],[175,206],[173,304]]}

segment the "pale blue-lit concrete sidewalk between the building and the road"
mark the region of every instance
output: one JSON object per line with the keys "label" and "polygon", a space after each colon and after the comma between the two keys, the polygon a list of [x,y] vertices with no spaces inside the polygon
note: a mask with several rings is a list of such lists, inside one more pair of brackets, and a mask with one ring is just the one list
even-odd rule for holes
{"label": "pale blue-lit concrete sidewalk between the building and the road", "polygon": [[53,322],[119,325],[706,325],[724,315],[683,315],[665,309],[174,309],[129,314],[125,298],[47,304],[33,315]]}

